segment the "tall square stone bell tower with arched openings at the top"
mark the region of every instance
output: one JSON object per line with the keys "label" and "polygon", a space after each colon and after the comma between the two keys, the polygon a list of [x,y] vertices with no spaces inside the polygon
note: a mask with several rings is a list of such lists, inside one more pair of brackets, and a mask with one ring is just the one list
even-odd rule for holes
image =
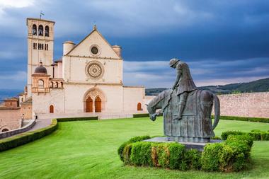
{"label": "tall square stone bell tower with arched openings at the top", "polygon": [[55,22],[41,18],[27,18],[28,27],[28,97],[32,96],[32,74],[40,62],[52,76]]}

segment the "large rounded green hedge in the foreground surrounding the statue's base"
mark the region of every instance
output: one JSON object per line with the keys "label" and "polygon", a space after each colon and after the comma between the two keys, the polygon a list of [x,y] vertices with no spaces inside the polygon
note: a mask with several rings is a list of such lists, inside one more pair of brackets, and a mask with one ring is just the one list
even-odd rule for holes
{"label": "large rounded green hedge in the foreground surrounding the statue's base", "polygon": [[118,154],[125,164],[134,166],[229,172],[241,171],[248,166],[252,144],[253,137],[247,134],[229,135],[226,142],[207,144],[203,152],[186,150],[183,144],[177,142],[129,140],[120,146]]}

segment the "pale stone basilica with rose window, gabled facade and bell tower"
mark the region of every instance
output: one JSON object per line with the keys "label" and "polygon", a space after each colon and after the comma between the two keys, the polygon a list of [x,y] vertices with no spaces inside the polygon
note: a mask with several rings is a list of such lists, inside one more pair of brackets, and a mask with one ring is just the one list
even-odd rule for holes
{"label": "pale stone basilica with rose window, gabled facade and bell tower", "polygon": [[[31,117],[81,112],[137,112],[146,109],[145,89],[122,83],[122,48],[110,45],[96,25],[81,42],[63,43],[53,58],[55,22],[27,18],[28,81],[20,96]],[[30,117],[30,116],[29,116]]]}

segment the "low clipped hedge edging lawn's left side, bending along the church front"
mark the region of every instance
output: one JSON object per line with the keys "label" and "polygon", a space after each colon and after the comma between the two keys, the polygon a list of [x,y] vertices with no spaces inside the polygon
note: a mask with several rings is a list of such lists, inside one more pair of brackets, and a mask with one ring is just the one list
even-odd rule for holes
{"label": "low clipped hedge edging lawn's left side, bending along the church front", "polygon": [[8,149],[15,148],[16,146],[21,146],[29,142],[33,142],[37,139],[45,137],[51,134],[58,128],[58,122],[67,121],[79,121],[79,120],[98,120],[98,117],[75,117],[75,118],[59,118],[53,119],[51,125],[44,127],[42,129],[37,129],[31,132],[24,132],[13,137],[8,137],[6,139],[0,140],[0,151],[6,151]]}

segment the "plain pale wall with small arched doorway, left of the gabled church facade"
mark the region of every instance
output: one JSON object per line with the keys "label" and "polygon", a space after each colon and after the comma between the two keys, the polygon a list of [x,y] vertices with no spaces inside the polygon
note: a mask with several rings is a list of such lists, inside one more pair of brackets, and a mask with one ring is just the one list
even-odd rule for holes
{"label": "plain pale wall with small arched doorway, left of the gabled church facade", "polygon": [[50,113],[50,105],[54,113],[64,113],[64,89],[52,88],[50,93],[33,93],[33,115]]}

